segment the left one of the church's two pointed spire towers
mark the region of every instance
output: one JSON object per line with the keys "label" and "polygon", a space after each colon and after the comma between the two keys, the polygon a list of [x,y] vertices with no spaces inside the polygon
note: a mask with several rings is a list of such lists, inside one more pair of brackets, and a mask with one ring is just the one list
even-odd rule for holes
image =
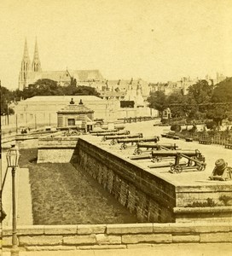
{"label": "left one of the church's two pointed spire towers", "polygon": [[27,44],[25,39],[24,53],[21,61],[20,77],[19,77],[19,90],[26,87],[26,75],[31,70],[31,61],[28,55]]}

